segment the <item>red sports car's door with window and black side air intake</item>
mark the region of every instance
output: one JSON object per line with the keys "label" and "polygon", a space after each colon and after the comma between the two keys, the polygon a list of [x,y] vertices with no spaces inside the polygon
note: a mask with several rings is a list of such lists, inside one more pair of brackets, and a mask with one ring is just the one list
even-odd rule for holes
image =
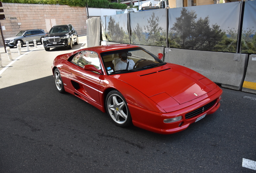
{"label": "red sports car's door with window and black side air intake", "polygon": [[82,51],[77,65],[72,66],[70,69],[70,85],[85,100],[88,99],[89,101],[100,104],[99,84],[103,75],[97,72],[85,71],[83,67],[87,64],[92,64],[97,69],[101,69],[99,56],[96,52]]}

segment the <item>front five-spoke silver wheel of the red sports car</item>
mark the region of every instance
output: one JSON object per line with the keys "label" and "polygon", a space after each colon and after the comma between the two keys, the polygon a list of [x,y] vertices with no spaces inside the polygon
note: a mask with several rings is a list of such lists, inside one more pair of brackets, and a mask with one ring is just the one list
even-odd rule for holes
{"label": "front five-spoke silver wheel of the red sports car", "polygon": [[107,114],[120,127],[132,124],[132,117],[123,95],[118,91],[110,91],[106,97]]}

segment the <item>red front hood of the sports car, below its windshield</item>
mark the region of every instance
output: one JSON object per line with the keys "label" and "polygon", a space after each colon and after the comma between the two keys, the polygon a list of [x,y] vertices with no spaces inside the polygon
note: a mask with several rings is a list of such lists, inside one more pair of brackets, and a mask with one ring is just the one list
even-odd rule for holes
{"label": "red front hood of the sports car, below its windshield", "polygon": [[[153,101],[161,98],[168,100],[168,97],[172,97],[179,104],[183,104],[211,91],[209,87],[198,81],[205,78],[204,76],[193,70],[190,72],[195,75],[191,77],[180,69],[158,68],[157,71],[144,70],[114,77],[130,84]],[[196,75],[197,79],[194,77]]]}

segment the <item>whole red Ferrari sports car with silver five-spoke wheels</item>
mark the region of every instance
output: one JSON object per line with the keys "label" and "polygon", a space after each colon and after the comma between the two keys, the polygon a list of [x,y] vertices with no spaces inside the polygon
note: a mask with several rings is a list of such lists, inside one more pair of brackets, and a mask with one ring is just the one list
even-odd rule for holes
{"label": "whole red Ferrari sports car with silver five-spoke wheels", "polygon": [[217,111],[222,90],[162,56],[130,44],[96,46],[57,56],[52,72],[60,93],[107,112],[114,124],[171,134]]}

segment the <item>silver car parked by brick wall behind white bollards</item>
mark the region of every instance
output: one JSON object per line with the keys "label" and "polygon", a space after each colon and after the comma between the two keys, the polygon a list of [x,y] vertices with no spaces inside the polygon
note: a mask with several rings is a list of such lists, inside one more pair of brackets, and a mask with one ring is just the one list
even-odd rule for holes
{"label": "silver car parked by brick wall behind white bollards", "polygon": [[29,42],[29,44],[33,43],[33,40],[36,40],[37,43],[42,43],[42,38],[44,36],[45,32],[42,29],[22,30],[13,37],[5,38],[4,42],[6,46],[13,48],[14,46],[17,46],[18,41],[20,40],[22,47],[26,42]]}

